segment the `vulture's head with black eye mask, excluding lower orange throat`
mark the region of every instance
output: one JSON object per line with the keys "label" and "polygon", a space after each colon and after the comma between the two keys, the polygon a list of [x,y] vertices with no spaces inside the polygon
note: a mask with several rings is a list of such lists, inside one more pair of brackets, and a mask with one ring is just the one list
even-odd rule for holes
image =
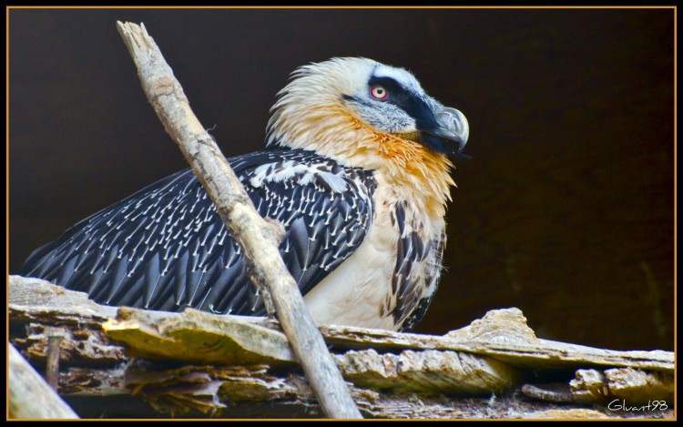
{"label": "vulture's head with black eye mask, excluding lower orange throat", "polygon": [[269,144],[332,157],[340,150],[372,150],[373,141],[379,151],[408,142],[457,157],[469,136],[464,115],[424,93],[413,74],[366,58],[301,66],[271,112]]}

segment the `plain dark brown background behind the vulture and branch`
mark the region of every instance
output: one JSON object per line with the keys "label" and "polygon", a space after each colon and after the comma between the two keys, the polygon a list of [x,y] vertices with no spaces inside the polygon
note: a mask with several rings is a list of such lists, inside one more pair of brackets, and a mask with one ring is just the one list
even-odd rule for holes
{"label": "plain dark brown background behind the vulture and branch", "polygon": [[447,271],[419,331],[524,310],[540,337],[671,349],[672,9],[11,10],[9,269],[185,168],[115,21],[144,22],[227,156],[297,66],[367,56],[461,109]]}

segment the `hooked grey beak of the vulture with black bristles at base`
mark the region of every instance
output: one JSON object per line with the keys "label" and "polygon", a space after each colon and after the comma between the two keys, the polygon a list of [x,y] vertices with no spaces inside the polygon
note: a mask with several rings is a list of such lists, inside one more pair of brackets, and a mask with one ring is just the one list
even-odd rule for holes
{"label": "hooked grey beak of the vulture with black bristles at base", "polygon": [[[444,154],[465,158],[463,149],[470,136],[470,127],[464,114],[452,107],[438,106],[434,121],[419,128],[423,143]],[[455,143],[455,144],[453,144]]]}

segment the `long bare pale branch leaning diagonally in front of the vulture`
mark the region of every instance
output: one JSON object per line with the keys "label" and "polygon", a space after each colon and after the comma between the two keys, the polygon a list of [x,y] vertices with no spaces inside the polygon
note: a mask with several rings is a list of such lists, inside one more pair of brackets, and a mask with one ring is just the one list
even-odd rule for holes
{"label": "long bare pale branch leaning diagonally in front of the vulture", "polygon": [[331,418],[361,418],[280,258],[281,226],[278,232],[260,217],[213,137],[192,113],[188,98],[144,25],[118,22],[117,28],[138,67],[149,103],[209,193],[230,236],[240,244],[250,280],[259,286],[269,311],[274,304],[282,330],[324,412]]}

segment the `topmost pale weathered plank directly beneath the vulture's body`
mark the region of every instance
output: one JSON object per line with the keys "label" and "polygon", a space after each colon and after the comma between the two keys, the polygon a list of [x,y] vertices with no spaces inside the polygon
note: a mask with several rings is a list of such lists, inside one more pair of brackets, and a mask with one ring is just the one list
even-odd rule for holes
{"label": "topmost pale weathered plank directly beneath the vulture's body", "polygon": [[[33,305],[33,301],[22,297],[26,293],[22,288],[36,290],[37,295],[41,296],[36,299],[39,301],[37,306]],[[15,298],[15,294],[19,297]],[[191,339],[188,336],[195,333],[191,329],[201,325],[212,334],[229,335],[228,340],[241,342],[247,351],[261,351],[262,355],[275,360],[291,361],[287,356],[289,353],[286,350],[286,341],[282,340],[281,332],[274,329],[273,325],[276,323],[260,318],[216,316],[196,310],[181,314],[135,309],[115,311],[111,307],[84,300],[85,294],[81,292],[54,287],[43,280],[22,281],[16,276],[10,277],[10,295],[13,321],[51,319],[58,323],[71,322],[79,325],[90,321],[95,325],[98,321],[111,319],[111,315],[117,312],[120,321],[128,321],[126,325],[130,330],[138,329],[136,333],[144,332],[149,337],[157,337],[156,340],[159,340],[160,331],[168,332],[168,339]],[[80,303],[84,304],[83,309],[80,309]],[[108,328],[122,339],[122,331],[127,327],[114,328],[114,324],[110,323]],[[674,369],[674,354],[670,351],[610,351],[536,339],[533,330],[526,326],[521,311],[516,309],[491,311],[484,319],[474,320],[472,325],[443,337],[345,326],[323,326],[321,331],[329,344],[341,349],[465,351],[504,361],[519,368],[534,369],[602,366],[669,373]],[[256,338],[250,340],[250,336]],[[266,340],[265,337],[269,338]],[[146,355],[151,356],[152,351],[165,350],[149,346],[148,351]],[[158,356],[168,357],[164,353],[159,353]]]}

